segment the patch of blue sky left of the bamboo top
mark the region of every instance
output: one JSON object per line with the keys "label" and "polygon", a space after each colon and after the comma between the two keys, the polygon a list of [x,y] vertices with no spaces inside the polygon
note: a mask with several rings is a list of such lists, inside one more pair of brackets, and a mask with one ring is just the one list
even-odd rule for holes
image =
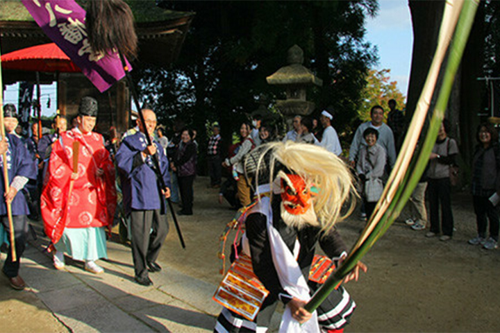
{"label": "patch of blue sky left of the bamboo top", "polygon": [[406,96],[410,76],[413,33],[407,0],[379,0],[374,19],[367,19],[366,40],[378,48],[376,69],[390,69],[390,78]]}

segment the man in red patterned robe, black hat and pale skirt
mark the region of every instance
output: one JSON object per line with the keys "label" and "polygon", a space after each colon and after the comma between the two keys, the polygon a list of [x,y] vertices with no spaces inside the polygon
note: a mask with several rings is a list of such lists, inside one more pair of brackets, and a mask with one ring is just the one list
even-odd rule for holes
{"label": "man in red patterned robe, black hat and pale skirt", "polygon": [[[67,253],[98,274],[103,268],[95,260],[107,257],[105,229],[113,223],[116,189],[115,168],[103,137],[92,132],[96,117],[97,101],[83,97],[78,126],[62,133],[52,146],[41,210],[45,233],[56,249],[54,266],[63,269]],[[76,173],[74,142],[79,143]]]}

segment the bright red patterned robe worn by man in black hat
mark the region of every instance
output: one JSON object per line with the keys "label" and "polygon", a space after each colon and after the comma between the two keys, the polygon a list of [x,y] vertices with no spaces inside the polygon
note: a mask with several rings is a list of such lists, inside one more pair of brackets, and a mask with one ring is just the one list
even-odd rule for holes
{"label": "bright red patterned robe worn by man in black hat", "polygon": [[[74,141],[80,142],[78,178],[68,198]],[[103,169],[102,176],[97,176],[97,169]],[[116,198],[115,167],[102,136],[94,132],[82,134],[78,128],[63,133],[52,146],[40,198],[45,233],[53,244],[65,228],[110,227]]]}

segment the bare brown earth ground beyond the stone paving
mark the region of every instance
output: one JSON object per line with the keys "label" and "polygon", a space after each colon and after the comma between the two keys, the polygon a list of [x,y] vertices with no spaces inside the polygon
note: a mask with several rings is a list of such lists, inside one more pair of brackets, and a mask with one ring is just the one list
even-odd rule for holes
{"label": "bare brown earth ground beyond the stone paving", "polygon": [[[194,215],[178,217],[186,249],[171,223],[160,261],[215,286],[219,235],[235,211],[219,205],[208,182],[195,180]],[[471,196],[453,194],[452,204],[457,230],[451,241],[428,239],[425,231],[396,222],[363,258],[368,273],[347,284],[358,309],[345,332],[500,332],[500,252],[467,244],[476,234]],[[363,225],[354,213],[338,228],[353,245]]]}

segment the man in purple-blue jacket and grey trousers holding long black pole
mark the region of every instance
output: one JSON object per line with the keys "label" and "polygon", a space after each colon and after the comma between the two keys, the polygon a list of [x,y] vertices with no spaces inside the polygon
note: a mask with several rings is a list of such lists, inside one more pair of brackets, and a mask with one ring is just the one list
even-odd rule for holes
{"label": "man in purple-blue jacket and grey trousers holding long black pole", "polygon": [[[122,190],[126,214],[131,214],[132,257],[135,281],[144,286],[153,284],[151,272],[161,271],[156,259],[169,231],[165,198],[170,196],[168,160],[161,145],[153,140],[156,114],[143,109],[145,128],[151,137],[151,146],[143,134],[144,124],[138,121],[141,131],[126,137],[116,155],[122,172]],[[160,175],[167,188],[160,189],[152,157],[156,155],[160,164]],[[152,229],[152,232],[151,232]]]}

